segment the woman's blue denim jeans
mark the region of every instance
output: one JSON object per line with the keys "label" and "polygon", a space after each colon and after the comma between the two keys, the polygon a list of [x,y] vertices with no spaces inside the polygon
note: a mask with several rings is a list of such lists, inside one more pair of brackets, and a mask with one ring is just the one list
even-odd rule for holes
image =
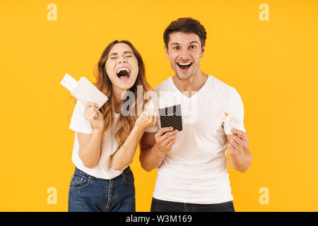
{"label": "woman's blue denim jeans", "polygon": [[135,212],[130,167],[113,179],[92,177],[77,167],[69,186],[69,212]]}

